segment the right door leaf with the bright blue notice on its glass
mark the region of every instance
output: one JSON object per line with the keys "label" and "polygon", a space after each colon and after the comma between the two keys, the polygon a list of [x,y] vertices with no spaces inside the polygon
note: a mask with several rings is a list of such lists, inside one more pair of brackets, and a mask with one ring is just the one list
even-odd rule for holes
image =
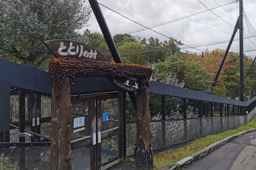
{"label": "right door leaf with the bright blue notice on its glass", "polygon": [[97,162],[101,169],[107,169],[124,158],[123,103],[123,92],[108,93],[108,96],[97,98],[97,127],[100,132]]}

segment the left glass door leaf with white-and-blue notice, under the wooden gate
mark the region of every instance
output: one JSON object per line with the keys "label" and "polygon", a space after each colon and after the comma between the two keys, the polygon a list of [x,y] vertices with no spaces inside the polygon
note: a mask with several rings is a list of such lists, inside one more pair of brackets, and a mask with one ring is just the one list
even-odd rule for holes
{"label": "left glass door leaf with white-and-blue notice, under the wooden gate", "polygon": [[96,169],[96,98],[77,100],[71,104],[72,169]]}

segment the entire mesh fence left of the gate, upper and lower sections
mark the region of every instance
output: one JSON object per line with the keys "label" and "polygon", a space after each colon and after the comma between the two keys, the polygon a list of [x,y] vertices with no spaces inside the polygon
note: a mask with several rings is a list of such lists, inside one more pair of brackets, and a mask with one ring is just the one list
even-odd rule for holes
{"label": "entire mesh fence left of the gate, upper and lower sections", "polygon": [[50,96],[11,90],[9,131],[0,140],[0,169],[50,169],[50,116]]}

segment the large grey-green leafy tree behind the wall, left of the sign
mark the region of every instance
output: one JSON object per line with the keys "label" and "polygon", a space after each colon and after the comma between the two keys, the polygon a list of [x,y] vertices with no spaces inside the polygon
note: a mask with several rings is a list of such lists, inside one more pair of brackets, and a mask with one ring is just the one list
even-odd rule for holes
{"label": "large grey-green leafy tree behind the wall, left of the sign", "polygon": [[43,41],[81,39],[90,8],[84,0],[0,1],[0,55],[2,58],[40,68],[53,56]]}

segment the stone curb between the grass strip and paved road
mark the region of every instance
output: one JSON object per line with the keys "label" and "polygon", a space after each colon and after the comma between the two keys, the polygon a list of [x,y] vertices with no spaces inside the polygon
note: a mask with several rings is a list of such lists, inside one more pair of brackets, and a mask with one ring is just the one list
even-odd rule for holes
{"label": "stone curb between the grass strip and paved road", "polygon": [[204,149],[184,158],[181,159],[180,161],[176,162],[175,164],[171,164],[171,165],[166,165],[164,167],[158,168],[157,170],[178,170],[198,159],[203,158],[205,155],[207,155],[208,153],[212,152],[213,150],[215,150],[216,148],[220,147],[223,144],[226,144],[227,142],[235,139],[236,137],[240,137],[241,135],[248,133],[248,132],[253,132],[255,131],[256,128],[251,128],[249,130],[237,133],[235,135],[231,135],[229,137],[226,137],[218,142],[215,142],[214,144],[211,144],[207,147],[205,147]]}

